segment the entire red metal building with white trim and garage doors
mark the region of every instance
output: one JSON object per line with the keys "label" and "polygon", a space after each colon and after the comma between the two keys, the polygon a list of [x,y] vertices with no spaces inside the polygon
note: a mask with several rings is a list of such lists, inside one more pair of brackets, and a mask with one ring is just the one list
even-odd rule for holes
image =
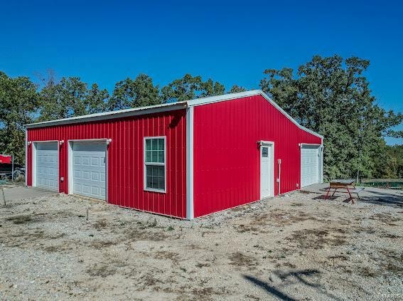
{"label": "entire red metal building with white trim and garage doors", "polygon": [[26,126],[26,184],[194,218],[322,181],[323,137],[261,90]]}

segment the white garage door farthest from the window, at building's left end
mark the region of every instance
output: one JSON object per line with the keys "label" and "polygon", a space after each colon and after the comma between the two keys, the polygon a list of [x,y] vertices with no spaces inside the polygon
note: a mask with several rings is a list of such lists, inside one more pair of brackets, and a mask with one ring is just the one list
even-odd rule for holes
{"label": "white garage door farthest from the window, at building's left end", "polygon": [[36,186],[59,190],[58,142],[36,144]]}

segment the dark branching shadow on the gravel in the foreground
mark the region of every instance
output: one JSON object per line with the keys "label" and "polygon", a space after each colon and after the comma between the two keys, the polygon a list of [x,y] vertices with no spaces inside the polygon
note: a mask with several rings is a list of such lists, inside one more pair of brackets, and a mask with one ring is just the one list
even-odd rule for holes
{"label": "dark branching shadow on the gravel in the foreground", "polygon": [[318,270],[294,270],[289,272],[276,270],[274,271],[274,275],[276,275],[276,277],[281,280],[278,285],[271,283],[271,281],[265,282],[251,275],[243,275],[243,277],[249,282],[252,282],[254,285],[261,287],[269,295],[278,297],[281,300],[299,300],[298,298],[291,297],[290,295],[287,295],[286,292],[284,292],[284,288],[297,282],[300,282],[302,285],[306,285],[307,287],[311,287],[313,290],[316,290],[320,295],[323,295],[323,298],[325,299],[340,300],[340,298],[336,297],[330,292],[326,292],[326,289],[324,287],[312,281],[313,276],[317,276],[320,274],[321,273]]}

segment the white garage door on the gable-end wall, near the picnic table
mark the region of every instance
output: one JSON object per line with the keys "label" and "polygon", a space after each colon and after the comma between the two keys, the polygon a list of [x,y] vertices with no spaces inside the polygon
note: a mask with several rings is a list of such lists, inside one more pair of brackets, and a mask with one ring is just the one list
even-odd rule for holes
{"label": "white garage door on the gable-end wall, near the picnic table", "polygon": [[319,183],[319,147],[303,145],[301,148],[301,187]]}

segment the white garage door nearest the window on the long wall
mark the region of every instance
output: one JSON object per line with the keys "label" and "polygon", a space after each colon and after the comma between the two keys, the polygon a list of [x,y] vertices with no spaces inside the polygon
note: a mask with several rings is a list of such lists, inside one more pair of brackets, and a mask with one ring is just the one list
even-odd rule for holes
{"label": "white garage door nearest the window on the long wall", "polygon": [[72,193],[106,199],[105,143],[74,142],[72,145]]}

